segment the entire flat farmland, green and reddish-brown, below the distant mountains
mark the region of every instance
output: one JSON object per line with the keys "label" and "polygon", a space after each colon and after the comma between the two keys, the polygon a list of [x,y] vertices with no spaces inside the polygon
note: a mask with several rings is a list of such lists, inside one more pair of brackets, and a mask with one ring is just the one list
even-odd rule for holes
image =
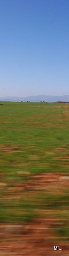
{"label": "entire flat farmland, green and reddish-brown, below the distant mountains", "polygon": [[[69,255],[69,104],[0,106],[0,255]],[[57,252],[55,251],[55,255]]]}

